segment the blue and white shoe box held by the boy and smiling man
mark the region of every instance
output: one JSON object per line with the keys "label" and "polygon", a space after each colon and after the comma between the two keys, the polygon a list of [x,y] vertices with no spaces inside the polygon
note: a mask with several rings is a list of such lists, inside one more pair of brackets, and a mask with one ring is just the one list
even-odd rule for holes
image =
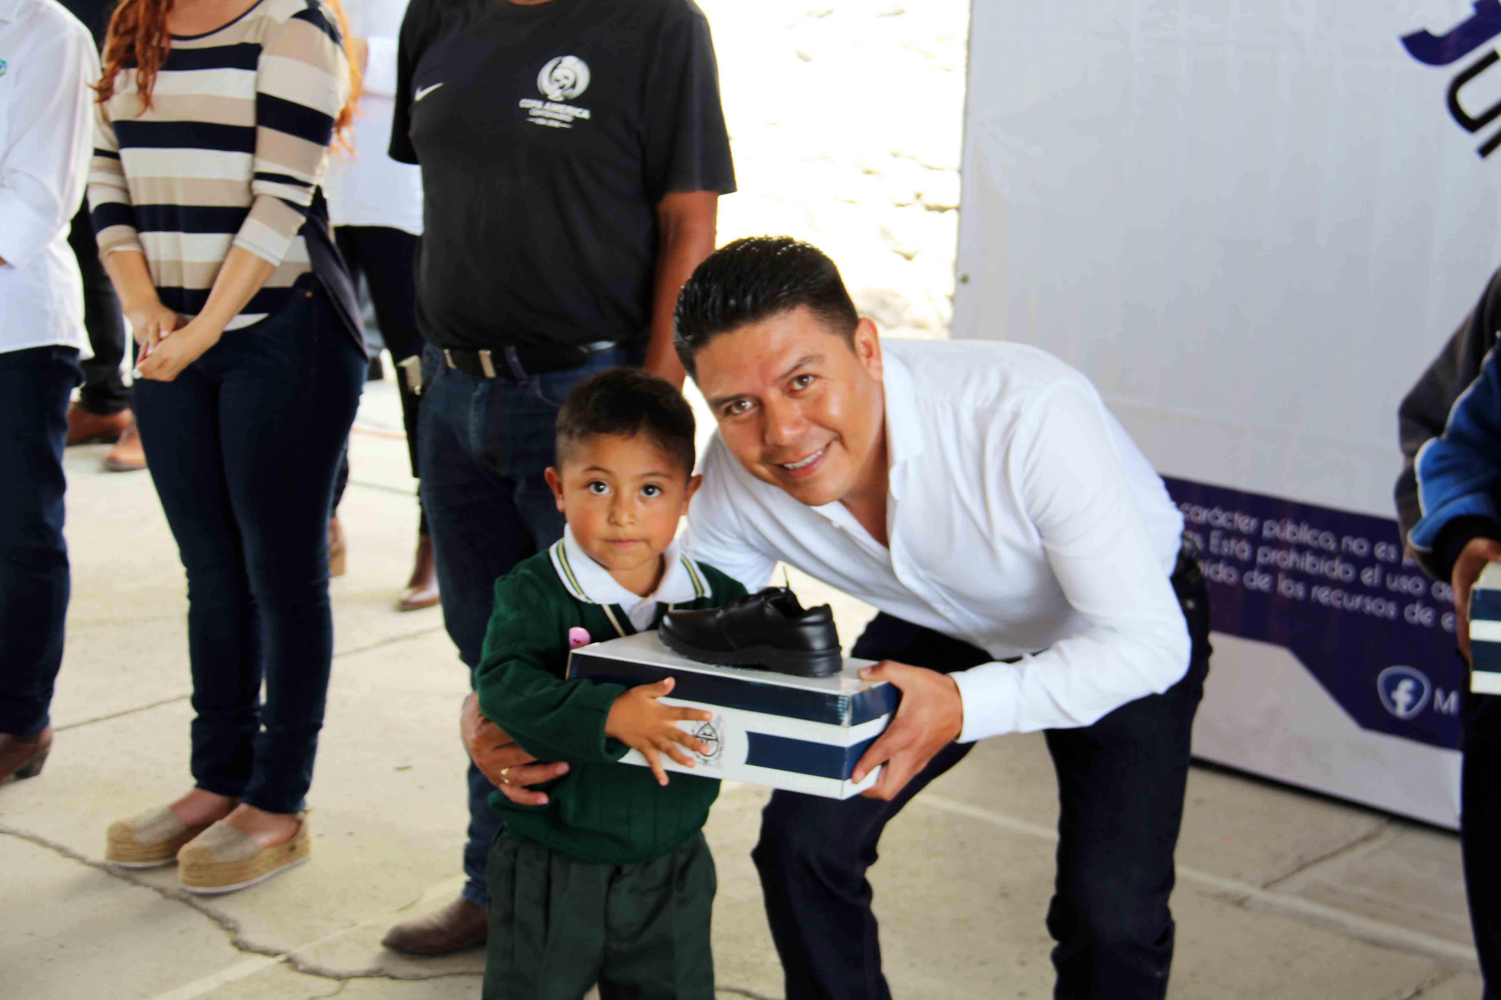
{"label": "blue and white shoe box held by the boy and smiling man", "polygon": [[[680,657],[654,631],[575,649],[567,676],[636,687],[675,678],[668,705],[713,712],[707,723],[680,723],[710,745],[695,768],[663,757],[668,771],[728,778],[830,799],[848,799],[875,784],[880,768],[856,784],[850,772],[881,735],[901,691],[886,681],[862,681],[869,660],[845,660],[827,678],[794,678],[770,670],[716,667]],[[624,763],[645,766],[632,750]]]}

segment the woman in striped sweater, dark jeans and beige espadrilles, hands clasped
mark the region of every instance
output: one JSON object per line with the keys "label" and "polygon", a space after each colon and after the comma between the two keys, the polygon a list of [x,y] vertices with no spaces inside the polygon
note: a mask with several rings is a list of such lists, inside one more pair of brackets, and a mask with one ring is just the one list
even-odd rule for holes
{"label": "woman in striped sweater, dark jeans and beige espadrilles, hands clasped", "polygon": [[[194,789],[110,826],[122,865],[225,892],[308,858],[327,523],[365,373],[318,183],[357,75],[338,0],[123,0],[89,199],[188,570]],[[266,703],[260,702],[261,682]]]}

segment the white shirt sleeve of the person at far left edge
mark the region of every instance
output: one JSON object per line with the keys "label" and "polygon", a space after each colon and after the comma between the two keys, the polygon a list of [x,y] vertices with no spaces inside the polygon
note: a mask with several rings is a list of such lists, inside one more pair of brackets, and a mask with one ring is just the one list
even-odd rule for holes
{"label": "white shirt sleeve of the person at far left edge", "polygon": [[93,135],[89,84],[99,78],[99,58],[81,24],[59,24],[24,58],[11,61],[11,139],[0,150],[0,259],[26,267],[83,204]]}

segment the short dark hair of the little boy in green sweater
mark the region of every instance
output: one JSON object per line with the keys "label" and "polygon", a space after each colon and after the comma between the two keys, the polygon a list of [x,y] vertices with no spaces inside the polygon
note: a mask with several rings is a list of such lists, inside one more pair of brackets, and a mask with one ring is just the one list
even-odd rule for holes
{"label": "short dark hair of the little boy in green sweater", "polygon": [[591,375],[569,391],[558,411],[557,462],[569,445],[600,435],[645,433],[693,474],[693,409],[672,384],[638,367],[612,367]]}

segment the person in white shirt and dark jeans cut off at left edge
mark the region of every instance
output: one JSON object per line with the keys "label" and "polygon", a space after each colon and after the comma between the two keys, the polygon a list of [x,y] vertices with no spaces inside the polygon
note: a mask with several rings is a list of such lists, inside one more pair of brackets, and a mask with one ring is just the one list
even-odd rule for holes
{"label": "person in white shirt and dark jeans cut off at left edge", "polygon": [[0,0],[0,784],[38,774],[63,657],[68,400],[87,352],[68,222],[99,57],[57,0]]}

